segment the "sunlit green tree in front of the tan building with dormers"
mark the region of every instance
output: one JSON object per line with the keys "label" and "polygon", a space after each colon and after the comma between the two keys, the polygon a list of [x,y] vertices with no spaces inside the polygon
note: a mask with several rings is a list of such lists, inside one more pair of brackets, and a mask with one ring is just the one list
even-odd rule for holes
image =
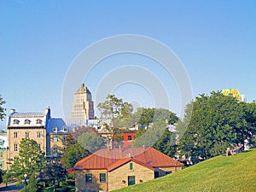
{"label": "sunlit green tree in front of the tan building with dormers", "polygon": [[38,173],[45,167],[46,159],[44,152],[38,150],[38,143],[29,138],[20,141],[19,156],[14,160],[7,174],[16,177],[18,183],[22,183],[24,174],[29,178],[27,188],[36,191]]}

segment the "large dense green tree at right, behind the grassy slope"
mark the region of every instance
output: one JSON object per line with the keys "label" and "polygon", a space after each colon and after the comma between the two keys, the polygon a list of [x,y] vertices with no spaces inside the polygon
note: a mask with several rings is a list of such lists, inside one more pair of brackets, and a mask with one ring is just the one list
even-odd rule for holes
{"label": "large dense green tree at right, behind the grassy slope", "polygon": [[227,147],[243,142],[239,132],[246,121],[241,104],[234,97],[212,91],[210,96],[202,94],[196,97],[185,113],[190,113],[192,106],[191,119],[185,116],[177,125],[178,134],[184,133],[179,141],[183,154],[197,162],[224,154]]}

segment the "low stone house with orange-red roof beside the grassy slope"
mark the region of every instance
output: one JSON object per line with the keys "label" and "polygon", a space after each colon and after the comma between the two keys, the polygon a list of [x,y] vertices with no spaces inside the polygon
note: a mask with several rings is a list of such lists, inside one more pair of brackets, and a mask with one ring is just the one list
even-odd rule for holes
{"label": "low stone house with orange-red roof beside the grassy slope", "polygon": [[111,191],[181,170],[183,164],[154,148],[102,148],[77,162],[76,191]]}

